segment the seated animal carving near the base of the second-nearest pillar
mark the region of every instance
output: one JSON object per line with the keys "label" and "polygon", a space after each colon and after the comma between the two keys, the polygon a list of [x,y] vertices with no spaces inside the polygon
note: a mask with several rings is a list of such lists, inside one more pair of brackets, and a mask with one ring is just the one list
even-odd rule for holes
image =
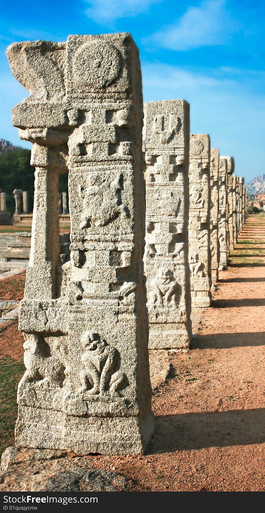
{"label": "seated animal carving near the base of the second-nearest pillar", "polygon": [[160,268],[157,272],[155,280],[152,281],[152,293],[148,306],[177,306],[177,294],[179,285],[175,280],[174,273],[171,269]]}

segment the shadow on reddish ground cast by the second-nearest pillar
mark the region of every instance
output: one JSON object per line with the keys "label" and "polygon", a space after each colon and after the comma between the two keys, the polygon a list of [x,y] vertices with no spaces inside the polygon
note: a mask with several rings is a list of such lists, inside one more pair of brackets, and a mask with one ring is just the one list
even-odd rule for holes
{"label": "shadow on reddish ground cast by the second-nearest pillar", "polygon": [[196,334],[192,338],[191,349],[230,349],[232,347],[251,347],[265,345],[264,331],[243,333]]}

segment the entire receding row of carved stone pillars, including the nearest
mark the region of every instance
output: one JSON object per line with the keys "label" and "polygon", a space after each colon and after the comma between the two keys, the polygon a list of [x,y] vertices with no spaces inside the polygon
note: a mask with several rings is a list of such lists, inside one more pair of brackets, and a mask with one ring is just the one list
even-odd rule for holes
{"label": "entire receding row of carved stone pillars, including the nearest", "polygon": [[[190,136],[183,100],[143,108],[130,34],[15,43],[8,58],[31,91],[12,116],[36,168],[16,444],[143,452],[154,429],[148,329],[150,350],[188,347],[192,302],[210,305],[211,235],[217,244],[220,227],[226,257],[230,241],[227,169],[215,150],[215,207],[222,195],[211,223],[210,138]],[[61,173],[71,221],[65,264]],[[216,251],[216,273],[219,265]]]}

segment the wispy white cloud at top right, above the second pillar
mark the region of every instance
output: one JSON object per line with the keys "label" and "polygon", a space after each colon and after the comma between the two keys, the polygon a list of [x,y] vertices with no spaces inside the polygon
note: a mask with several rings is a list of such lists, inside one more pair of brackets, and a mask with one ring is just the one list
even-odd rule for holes
{"label": "wispy white cloud at top right, above the second pillar", "polygon": [[226,0],[205,0],[199,7],[189,7],[176,23],[165,26],[145,41],[171,50],[224,45],[239,27],[225,6]]}

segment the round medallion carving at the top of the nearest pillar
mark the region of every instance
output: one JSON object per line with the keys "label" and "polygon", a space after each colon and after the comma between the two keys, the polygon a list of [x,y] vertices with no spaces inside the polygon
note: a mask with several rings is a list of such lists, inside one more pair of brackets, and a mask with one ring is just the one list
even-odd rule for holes
{"label": "round medallion carving at the top of the nearest pillar", "polygon": [[74,56],[74,82],[95,88],[109,86],[119,76],[122,57],[113,45],[85,43]]}

